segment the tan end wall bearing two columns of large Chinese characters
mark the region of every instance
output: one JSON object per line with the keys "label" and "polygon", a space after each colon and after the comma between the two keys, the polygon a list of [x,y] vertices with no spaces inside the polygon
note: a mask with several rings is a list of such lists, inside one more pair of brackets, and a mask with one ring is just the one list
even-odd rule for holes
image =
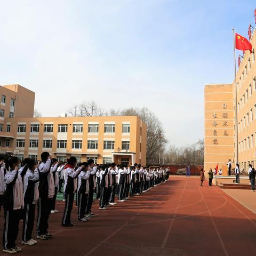
{"label": "tan end wall bearing two columns of large Chinese characters", "polygon": [[205,85],[205,170],[234,159],[234,107],[232,84]]}

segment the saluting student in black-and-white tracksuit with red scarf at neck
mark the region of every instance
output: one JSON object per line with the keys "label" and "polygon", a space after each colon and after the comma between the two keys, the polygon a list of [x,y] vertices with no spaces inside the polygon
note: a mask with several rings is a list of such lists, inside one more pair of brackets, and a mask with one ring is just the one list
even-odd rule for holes
{"label": "saluting student in black-and-white tracksuit with red scarf at neck", "polygon": [[65,193],[65,209],[63,212],[62,226],[63,227],[73,227],[74,225],[70,222],[70,215],[73,209],[74,195],[77,188],[77,177],[79,173],[84,169],[84,165],[81,165],[76,169],[77,161],[76,157],[71,156],[67,159],[67,165],[65,166],[65,183],[64,183],[64,193]]}

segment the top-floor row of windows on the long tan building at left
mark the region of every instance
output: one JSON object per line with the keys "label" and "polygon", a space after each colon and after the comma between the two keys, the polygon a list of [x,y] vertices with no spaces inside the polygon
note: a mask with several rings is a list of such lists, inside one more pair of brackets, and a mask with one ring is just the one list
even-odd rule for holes
{"label": "top-floor row of windows on the long tan building at left", "polygon": [[[7,130],[9,130],[9,132],[10,132],[10,128],[11,128],[11,126],[9,125],[9,127],[8,127],[8,125],[7,125]],[[26,132],[26,124],[18,124],[17,131],[18,132]],[[39,132],[39,124],[31,124],[30,132]],[[44,132],[53,132],[53,124],[45,124]],[[64,133],[68,132],[68,125],[67,124],[59,124],[58,132],[64,132]],[[83,132],[83,124],[73,124],[73,133],[78,133],[78,132],[79,133]],[[98,133],[99,125],[98,124],[89,124],[88,132],[89,133]],[[114,133],[115,132],[115,124],[105,124],[104,132],[105,133]],[[123,124],[122,132],[129,133],[130,132],[130,124]]]}

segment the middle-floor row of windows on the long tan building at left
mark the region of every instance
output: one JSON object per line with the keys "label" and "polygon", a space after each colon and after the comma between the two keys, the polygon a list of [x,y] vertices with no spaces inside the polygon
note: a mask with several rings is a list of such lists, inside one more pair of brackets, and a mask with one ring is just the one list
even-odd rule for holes
{"label": "middle-floor row of windows on the long tan building at left", "polygon": [[[8,145],[9,146],[9,145]],[[24,148],[25,139],[17,139],[16,147]],[[29,140],[30,148],[38,148],[38,140]],[[43,148],[52,148],[52,140],[43,140]],[[57,140],[57,148],[67,148],[67,140]],[[72,148],[82,149],[82,140],[72,140]],[[114,149],[115,141],[105,140],[103,142],[103,149]],[[87,149],[98,149],[98,140],[88,140]],[[122,150],[130,149],[130,141],[122,141]]]}

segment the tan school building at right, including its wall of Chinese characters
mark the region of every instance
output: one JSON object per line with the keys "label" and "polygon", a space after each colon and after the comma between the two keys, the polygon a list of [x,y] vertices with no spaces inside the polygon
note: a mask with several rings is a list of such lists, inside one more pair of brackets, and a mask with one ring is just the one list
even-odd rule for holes
{"label": "tan school building at right, including its wall of Chinese characters", "polygon": [[[256,161],[256,35],[251,38],[252,53],[246,51],[231,84],[205,85],[205,170],[219,163],[226,172],[228,159],[235,167],[236,133],[238,163],[247,172]],[[235,86],[237,88],[237,123],[235,122]],[[225,172],[223,174],[225,174]]]}

